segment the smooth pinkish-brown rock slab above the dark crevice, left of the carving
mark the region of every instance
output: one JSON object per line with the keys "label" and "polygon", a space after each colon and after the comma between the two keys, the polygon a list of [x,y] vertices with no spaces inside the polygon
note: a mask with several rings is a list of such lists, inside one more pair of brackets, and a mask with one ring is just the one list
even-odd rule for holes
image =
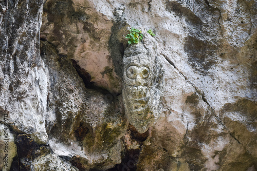
{"label": "smooth pinkish-brown rock slab above the dark crevice, left of the carving", "polygon": [[[65,27],[64,27],[65,26]],[[89,88],[121,93],[122,80],[114,71],[108,42],[113,23],[88,1],[46,1],[41,39],[73,59],[88,74]]]}

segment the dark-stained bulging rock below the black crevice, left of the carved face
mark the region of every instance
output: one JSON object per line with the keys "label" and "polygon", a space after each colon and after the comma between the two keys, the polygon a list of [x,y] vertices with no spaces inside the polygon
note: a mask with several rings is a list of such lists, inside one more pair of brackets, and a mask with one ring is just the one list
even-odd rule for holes
{"label": "dark-stained bulging rock below the black crevice, left of the carved face", "polygon": [[49,68],[46,127],[54,153],[80,170],[120,163],[127,125],[121,96],[86,89],[74,60],[58,55],[46,41],[41,41],[41,56]]}

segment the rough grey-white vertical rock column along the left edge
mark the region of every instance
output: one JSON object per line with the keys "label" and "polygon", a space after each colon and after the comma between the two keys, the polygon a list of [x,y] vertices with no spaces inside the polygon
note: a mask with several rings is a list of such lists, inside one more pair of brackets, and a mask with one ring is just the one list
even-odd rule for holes
{"label": "rough grey-white vertical rock column along the left edge", "polygon": [[43,2],[0,2],[0,109],[9,112],[8,123],[15,131],[39,144],[48,140],[48,72],[39,55]]}

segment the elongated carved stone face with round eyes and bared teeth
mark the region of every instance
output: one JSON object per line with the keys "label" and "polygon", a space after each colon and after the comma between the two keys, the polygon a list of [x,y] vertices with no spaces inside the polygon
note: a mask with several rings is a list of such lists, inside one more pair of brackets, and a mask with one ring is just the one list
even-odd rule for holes
{"label": "elongated carved stone face with round eyes and bared teeth", "polygon": [[145,132],[156,121],[160,93],[154,87],[158,73],[155,56],[142,44],[126,49],[123,57],[123,102],[128,121]]}

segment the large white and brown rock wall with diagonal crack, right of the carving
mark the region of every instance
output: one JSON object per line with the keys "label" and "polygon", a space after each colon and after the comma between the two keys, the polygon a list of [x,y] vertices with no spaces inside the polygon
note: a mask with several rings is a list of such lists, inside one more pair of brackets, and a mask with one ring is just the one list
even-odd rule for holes
{"label": "large white and brown rock wall with diagonal crack, right of the carving", "polygon": [[[256,106],[256,2],[93,2],[109,18],[115,18],[109,12],[112,4],[125,7],[122,16],[129,25],[155,28],[163,56],[164,110],[145,145],[169,154],[142,155],[137,169],[255,169],[254,150],[240,141],[243,135],[248,143],[254,141],[255,118],[243,117],[250,111],[240,108],[224,112],[224,106],[237,101],[251,110]],[[164,165],[166,158],[174,163]]]}

